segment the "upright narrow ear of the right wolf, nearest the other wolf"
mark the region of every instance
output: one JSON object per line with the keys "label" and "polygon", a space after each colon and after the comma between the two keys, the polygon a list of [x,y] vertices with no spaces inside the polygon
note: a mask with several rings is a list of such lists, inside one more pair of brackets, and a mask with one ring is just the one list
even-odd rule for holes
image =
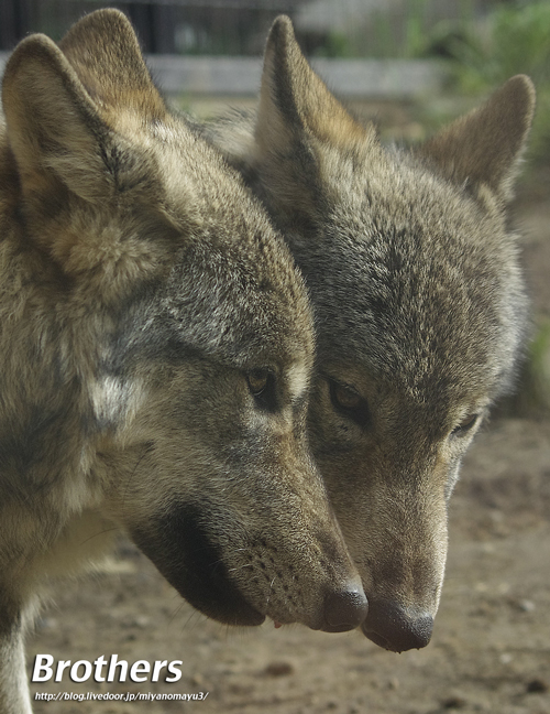
{"label": "upright narrow ear of the right wolf, nearest the other wolf", "polygon": [[256,140],[274,145],[299,131],[343,149],[366,138],[366,130],[311,69],[290,20],[282,15],[267,37]]}

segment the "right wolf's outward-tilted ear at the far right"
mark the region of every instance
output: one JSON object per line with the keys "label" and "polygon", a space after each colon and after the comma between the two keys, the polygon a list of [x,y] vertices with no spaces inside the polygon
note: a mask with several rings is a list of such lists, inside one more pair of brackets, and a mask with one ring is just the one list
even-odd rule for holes
{"label": "right wolf's outward-tilted ear at the far right", "polygon": [[529,77],[508,79],[482,107],[458,119],[419,150],[451,181],[487,186],[499,202],[512,186],[535,111]]}

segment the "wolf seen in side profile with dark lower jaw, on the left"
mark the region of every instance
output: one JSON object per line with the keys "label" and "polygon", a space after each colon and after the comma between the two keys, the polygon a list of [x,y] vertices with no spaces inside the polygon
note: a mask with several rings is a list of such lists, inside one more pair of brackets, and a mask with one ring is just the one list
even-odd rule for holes
{"label": "wolf seen in side profile with dark lower jaw, on the left", "polygon": [[306,439],[304,281],[123,14],[23,40],[0,131],[0,712],[31,712],[45,583],[125,532],[229,625],[355,628],[361,580]]}

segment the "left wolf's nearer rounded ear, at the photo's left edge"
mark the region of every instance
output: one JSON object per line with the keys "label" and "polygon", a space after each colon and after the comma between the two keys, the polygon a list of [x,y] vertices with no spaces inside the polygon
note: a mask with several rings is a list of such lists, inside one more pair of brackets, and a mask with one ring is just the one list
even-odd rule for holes
{"label": "left wolf's nearer rounded ear, at the photo's left edge", "polygon": [[8,61],[2,102],[23,192],[64,184],[88,201],[105,195],[109,128],[61,50],[45,35],[23,40]]}

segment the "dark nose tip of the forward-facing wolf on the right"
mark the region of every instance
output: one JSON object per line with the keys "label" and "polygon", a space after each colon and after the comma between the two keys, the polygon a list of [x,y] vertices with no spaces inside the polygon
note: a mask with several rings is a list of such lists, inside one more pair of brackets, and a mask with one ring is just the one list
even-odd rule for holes
{"label": "dark nose tip of the forward-facing wolf on the right", "polygon": [[426,647],[431,639],[433,617],[392,601],[371,601],[362,630],[370,640],[393,652]]}

